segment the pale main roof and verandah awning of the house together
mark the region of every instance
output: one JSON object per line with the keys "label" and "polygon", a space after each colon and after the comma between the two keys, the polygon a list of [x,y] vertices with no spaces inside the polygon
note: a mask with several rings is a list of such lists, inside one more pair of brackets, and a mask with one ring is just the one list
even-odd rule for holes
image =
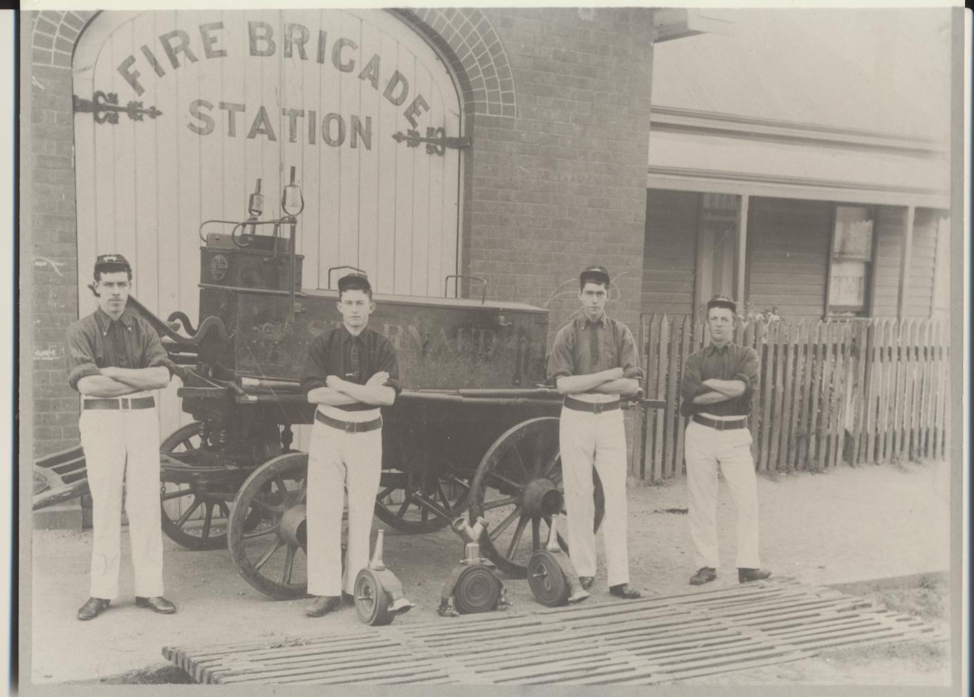
{"label": "pale main roof and verandah awning of the house together", "polygon": [[651,187],[948,207],[949,11],[706,17],[654,53]]}

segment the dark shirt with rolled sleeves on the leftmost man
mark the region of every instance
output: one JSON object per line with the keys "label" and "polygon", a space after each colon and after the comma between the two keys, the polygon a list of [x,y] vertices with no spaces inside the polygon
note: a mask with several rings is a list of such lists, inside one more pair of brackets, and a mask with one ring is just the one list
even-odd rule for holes
{"label": "dark shirt with rolled sleeves on the leftmost man", "polygon": [[169,360],[159,335],[149,322],[129,306],[118,319],[100,307],[67,329],[67,382],[72,389],[99,368],[155,368],[164,366],[172,377]]}

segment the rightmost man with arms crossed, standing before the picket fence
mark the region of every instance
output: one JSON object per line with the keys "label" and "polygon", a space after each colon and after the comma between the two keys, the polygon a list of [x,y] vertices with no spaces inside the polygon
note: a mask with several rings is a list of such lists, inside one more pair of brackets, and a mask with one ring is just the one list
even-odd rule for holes
{"label": "rightmost man with arms crossed, standing before the picket fence", "polygon": [[737,580],[768,578],[758,558],[758,490],[747,415],[758,384],[758,353],[732,343],[737,306],[726,295],[707,303],[710,345],[683,368],[680,413],[687,425],[687,489],[696,565],[694,586],[717,578],[717,465],[737,509]]}

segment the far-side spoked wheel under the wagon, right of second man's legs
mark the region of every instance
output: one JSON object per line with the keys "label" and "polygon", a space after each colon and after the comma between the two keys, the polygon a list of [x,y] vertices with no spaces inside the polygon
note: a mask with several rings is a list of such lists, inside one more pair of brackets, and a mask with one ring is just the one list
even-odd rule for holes
{"label": "far-side spoked wheel under the wagon, right of second man's legs", "polygon": [[[469,476],[448,470],[437,476],[424,491],[422,474],[414,473],[418,469],[383,472],[379,494],[375,497],[375,514],[383,523],[400,532],[442,530],[467,510]],[[391,498],[398,502],[391,502]]]}

